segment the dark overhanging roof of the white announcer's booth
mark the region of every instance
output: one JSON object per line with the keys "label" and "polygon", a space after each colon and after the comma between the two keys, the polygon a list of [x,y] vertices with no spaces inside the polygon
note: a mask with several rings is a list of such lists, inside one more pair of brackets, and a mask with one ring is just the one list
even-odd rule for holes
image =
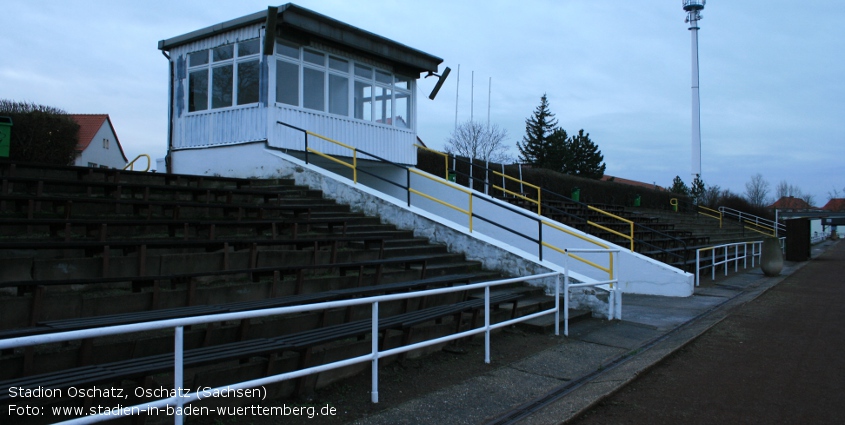
{"label": "dark overhanging roof of the white announcer's booth", "polygon": [[[169,51],[174,47],[208,38],[216,34],[249,25],[265,23],[270,17],[268,12],[274,9],[276,8],[270,7],[267,11],[256,12],[167,40],[161,40],[158,42],[158,48],[162,51]],[[328,16],[321,15],[293,3],[279,6],[277,10],[275,28],[277,35],[285,34],[286,36],[293,35],[308,39],[316,38],[322,42],[371,55],[416,73],[425,71],[437,72],[437,66],[443,62],[443,59],[436,56],[329,18]]]}

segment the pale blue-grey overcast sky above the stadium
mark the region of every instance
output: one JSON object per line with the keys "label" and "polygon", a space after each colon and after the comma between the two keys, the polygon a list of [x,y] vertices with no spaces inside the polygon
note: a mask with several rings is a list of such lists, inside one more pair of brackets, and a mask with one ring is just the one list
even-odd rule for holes
{"label": "pale blue-grey overcast sky above the stadium", "polygon": [[[525,119],[546,93],[561,127],[590,133],[607,174],[661,186],[691,180],[691,46],[680,0],[296,3],[444,59],[441,69],[453,72],[436,100],[427,97],[434,78],[418,89],[418,134],[430,147],[443,148],[456,109],[458,121],[487,122],[489,105],[516,158]],[[157,42],[268,5],[276,4],[5,1],[0,98],[107,113],[130,159],[163,157],[168,66]],[[771,197],[781,181],[818,206],[834,189],[845,196],[845,8],[711,0],[702,15],[704,181],[744,194],[760,173]]]}

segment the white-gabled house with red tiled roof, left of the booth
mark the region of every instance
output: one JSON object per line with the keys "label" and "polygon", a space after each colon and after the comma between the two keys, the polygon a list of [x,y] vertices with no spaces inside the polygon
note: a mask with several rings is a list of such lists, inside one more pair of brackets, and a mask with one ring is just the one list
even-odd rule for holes
{"label": "white-gabled house with red tiled roof, left of the booth", "polygon": [[70,117],[79,124],[74,165],[100,168],[126,166],[126,154],[108,114],[74,114]]}

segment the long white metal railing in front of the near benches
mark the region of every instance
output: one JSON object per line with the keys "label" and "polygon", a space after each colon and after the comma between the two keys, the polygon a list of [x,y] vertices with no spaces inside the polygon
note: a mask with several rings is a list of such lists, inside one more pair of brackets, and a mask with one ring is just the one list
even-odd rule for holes
{"label": "long white metal railing in front of the near benches", "polygon": [[[522,322],[525,320],[530,320],[539,316],[544,316],[546,314],[555,314],[555,335],[560,335],[559,332],[559,323],[560,323],[560,277],[561,273],[559,272],[552,272],[552,273],[542,273],[536,274],[526,277],[518,277],[518,278],[511,278],[511,279],[501,279],[496,281],[488,281],[488,282],[480,282],[474,283],[469,285],[459,285],[449,288],[439,288],[439,289],[430,289],[425,291],[417,291],[412,293],[403,293],[403,294],[391,294],[391,295],[380,295],[376,297],[369,297],[369,298],[358,298],[353,300],[343,300],[343,301],[330,301],[330,302],[323,302],[323,303],[316,303],[316,304],[306,304],[300,306],[292,306],[292,307],[278,307],[278,308],[271,308],[265,310],[254,310],[254,311],[246,311],[246,312],[238,312],[238,313],[223,313],[223,314],[213,314],[208,316],[201,316],[201,317],[187,317],[181,319],[169,319],[169,320],[160,320],[155,322],[146,322],[146,323],[136,323],[130,325],[119,325],[119,326],[109,326],[104,328],[97,328],[97,329],[84,329],[84,330],[77,330],[77,331],[68,331],[68,332],[58,332],[53,334],[46,334],[46,335],[35,335],[35,336],[27,336],[27,337],[17,337],[17,338],[8,338],[0,340],[0,350],[9,349],[9,348],[17,348],[17,347],[26,347],[38,344],[48,344],[48,343],[55,343],[55,342],[63,342],[63,341],[71,341],[77,339],[85,339],[85,338],[96,338],[96,337],[103,337],[109,335],[117,335],[117,334],[127,334],[133,332],[143,332],[143,331],[152,331],[152,330],[160,330],[160,329],[168,329],[174,328],[174,368],[173,368],[173,385],[174,391],[173,394],[176,394],[174,397],[163,398],[143,404],[138,404],[134,406],[121,406],[118,410],[109,410],[105,413],[92,415],[92,416],[84,416],[79,417],[76,419],[71,419],[65,422],[60,422],[61,424],[90,424],[90,423],[97,423],[102,422],[110,419],[115,419],[118,416],[128,416],[134,415],[139,413],[149,413],[149,412],[161,412],[161,409],[168,409],[165,411],[172,411],[174,412],[174,424],[181,425],[183,416],[182,413],[185,412],[185,405],[191,403],[193,401],[197,401],[202,397],[201,393],[190,393],[188,392],[185,395],[186,388],[183,388],[183,333],[185,326],[193,326],[199,325],[204,323],[210,322],[222,322],[222,321],[234,321],[234,320],[242,320],[242,319],[252,319],[258,317],[266,317],[266,316],[275,316],[275,315],[282,315],[282,314],[292,314],[292,313],[302,313],[308,311],[315,311],[315,310],[324,310],[324,309],[331,309],[331,308],[339,308],[339,307],[350,307],[354,305],[361,305],[361,304],[371,304],[372,305],[372,352],[361,355],[358,357],[353,357],[345,360],[340,360],[332,363],[327,363],[324,365],[313,366],[305,369],[300,369],[292,372],[281,373],[273,376],[267,376],[260,379],[254,379],[250,381],[243,381],[238,382],[235,384],[226,385],[224,387],[218,388],[210,388],[208,389],[208,393],[211,394],[220,394],[226,395],[237,390],[243,390],[247,388],[258,388],[264,385],[285,381],[288,379],[299,378],[303,376],[307,376],[313,373],[324,372],[327,370],[337,369],[345,366],[351,366],[358,363],[364,362],[371,362],[372,363],[372,391],[371,391],[371,400],[373,403],[378,403],[378,361],[379,359],[387,356],[392,356],[396,354],[401,354],[404,352],[416,350],[419,348],[424,348],[430,345],[440,344],[444,342],[449,342],[452,340],[465,338],[468,336],[476,335],[479,333],[484,333],[484,361],[485,363],[490,363],[490,331],[493,329],[502,328],[505,326],[510,326],[512,324]],[[555,306],[554,308],[547,309],[544,311],[539,311],[536,313],[532,313],[529,315],[525,315],[522,317],[518,317],[515,319],[506,320],[503,322],[499,322],[496,324],[490,323],[490,287],[492,286],[501,286],[501,285],[508,285],[513,283],[520,283],[520,282],[527,282],[539,279],[548,279],[554,278],[554,287],[555,287]],[[567,278],[568,279],[568,278]],[[378,332],[379,332],[379,319],[378,319],[378,309],[380,302],[387,302],[387,301],[396,301],[402,300],[406,298],[416,298],[416,297],[426,297],[431,295],[438,295],[438,294],[445,294],[450,292],[459,292],[459,291],[468,291],[468,290],[475,290],[475,289],[484,289],[484,326],[480,328],[474,328],[463,332],[458,332],[452,335],[447,335],[440,338],[430,339],[422,342],[418,342],[415,344],[404,345],[401,347],[396,347],[384,351],[379,351],[378,347]],[[568,303],[566,303],[568,305]],[[566,316],[568,318],[568,315]],[[205,390],[205,389],[204,389]]]}

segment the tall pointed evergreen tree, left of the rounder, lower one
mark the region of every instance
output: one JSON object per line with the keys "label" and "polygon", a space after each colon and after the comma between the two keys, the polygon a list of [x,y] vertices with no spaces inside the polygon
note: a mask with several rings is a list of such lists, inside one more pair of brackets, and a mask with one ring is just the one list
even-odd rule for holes
{"label": "tall pointed evergreen tree, left of the rounder, lower one", "polygon": [[557,127],[554,114],[549,111],[549,101],[546,94],[540,98],[540,106],[534,114],[525,120],[525,136],[522,143],[516,142],[519,148],[519,160],[538,168],[552,168],[554,159],[551,156],[553,147],[549,136]]}

